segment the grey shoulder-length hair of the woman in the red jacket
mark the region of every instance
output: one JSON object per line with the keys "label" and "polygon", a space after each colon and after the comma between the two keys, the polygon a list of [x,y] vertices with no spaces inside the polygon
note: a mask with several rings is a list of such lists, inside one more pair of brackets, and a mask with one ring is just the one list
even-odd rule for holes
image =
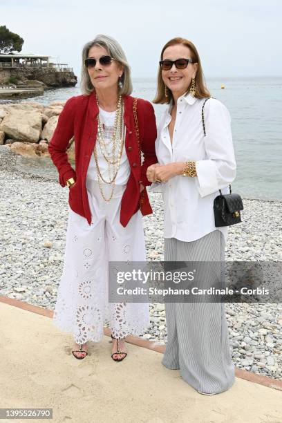
{"label": "grey shoulder-length hair of the woman in the red jacket", "polygon": [[132,93],[132,82],[131,82],[131,69],[126,59],[126,55],[124,54],[124,50],[118,41],[115,41],[112,37],[108,37],[107,35],[97,35],[95,39],[89,41],[85,44],[82,50],[82,79],[80,81],[80,86],[82,89],[82,93],[89,95],[92,93],[94,87],[91,82],[91,79],[88,75],[87,68],[84,64],[85,59],[88,58],[88,53],[91,47],[99,46],[106,48],[108,54],[116,59],[121,65],[124,66],[124,73],[122,74],[122,88],[119,88],[120,95],[130,95]]}

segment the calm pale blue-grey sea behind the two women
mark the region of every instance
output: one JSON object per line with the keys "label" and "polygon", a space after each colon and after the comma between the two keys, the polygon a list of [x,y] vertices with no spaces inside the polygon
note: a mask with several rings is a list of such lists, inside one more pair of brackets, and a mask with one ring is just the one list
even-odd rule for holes
{"label": "calm pale blue-grey sea behind the two women", "polygon": [[[223,102],[232,118],[232,135],[237,162],[232,191],[243,198],[282,200],[282,77],[207,78],[212,97]],[[156,79],[133,79],[133,95],[153,100]],[[225,88],[221,88],[224,86]],[[81,93],[72,88],[45,91],[43,96],[5,103],[35,101],[49,104]],[[2,102],[3,103],[3,102]],[[1,106],[1,105],[0,105]],[[157,122],[165,106],[153,105]],[[21,171],[57,179],[48,159],[18,156]]]}

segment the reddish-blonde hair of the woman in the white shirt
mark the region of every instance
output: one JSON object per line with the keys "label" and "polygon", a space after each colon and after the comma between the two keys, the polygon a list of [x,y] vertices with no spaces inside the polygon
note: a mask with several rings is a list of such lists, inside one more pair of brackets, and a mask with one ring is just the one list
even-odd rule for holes
{"label": "reddish-blonde hair of the woman in the white shirt", "polygon": [[[198,63],[198,70],[197,70],[196,77],[195,77],[195,83],[196,83],[195,97],[197,97],[197,98],[210,97],[210,93],[209,93],[209,91],[208,91],[208,89],[205,85],[205,77],[204,77],[204,74],[203,74],[202,66],[200,64],[200,56],[198,54],[196,47],[194,46],[194,44],[191,41],[189,41],[188,39],[185,39],[185,38],[181,38],[181,37],[176,37],[176,38],[171,39],[162,48],[162,53],[160,53],[160,59],[161,60],[163,59],[164,50],[167,47],[176,46],[177,44],[182,44],[183,46],[188,47],[191,51],[191,59],[194,60],[194,63],[195,62]],[[191,86],[191,83],[189,84],[188,91],[189,91],[190,86]],[[159,68],[159,70],[158,70],[158,88],[157,88],[156,97],[153,99],[153,103],[169,104],[171,102],[171,100],[173,101],[173,95],[172,95],[171,91],[169,90],[169,88],[167,88],[167,94],[168,94],[168,97],[165,96],[165,85],[164,85],[164,82],[162,80],[162,69]]]}

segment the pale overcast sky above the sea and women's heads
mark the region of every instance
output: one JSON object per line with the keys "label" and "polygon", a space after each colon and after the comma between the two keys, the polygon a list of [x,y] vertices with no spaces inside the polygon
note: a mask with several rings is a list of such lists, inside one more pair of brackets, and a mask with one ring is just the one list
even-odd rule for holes
{"label": "pale overcast sky above the sea and women's heads", "polygon": [[196,45],[205,77],[279,77],[281,18],[281,0],[0,0],[0,25],[25,40],[21,53],[50,55],[78,77],[97,34],[121,44],[133,78],[156,77],[173,37]]}

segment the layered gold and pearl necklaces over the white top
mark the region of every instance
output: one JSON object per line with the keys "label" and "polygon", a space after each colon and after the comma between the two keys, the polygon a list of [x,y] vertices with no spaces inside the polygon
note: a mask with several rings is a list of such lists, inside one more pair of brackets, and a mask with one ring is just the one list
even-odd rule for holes
{"label": "layered gold and pearl necklaces over the white top", "polygon": [[[96,97],[96,100],[97,100],[97,106],[99,107],[97,97]],[[122,149],[124,146],[124,122],[122,119],[122,115],[123,115],[123,102],[122,102],[122,96],[120,95],[120,97],[118,98],[117,110],[115,111],[115,122],[113,125],[113,131],[108,141],[106,141],[104,137],[104,128],[100,120],[100,115],[97,116],[98,130],[97,130],[97,141],[94,147],[94,158],[96,163],[97,179],[98,179],[98,183],[100,187],[100,192],[105,201],[111,201],[111,198],[113,197],[113,191],[115,189],[115,179],[118,176],[118,169],[120,169],[120,159],[122,157]],[[97,144],[99,145],[102,155],[108,165],[107,167],[108,167],[109,180],[106,180],[104,176],[102,176],[102,172],[100,170],[98,157],[97,157]],[[111,195],[109,198],[106,198],[104,194],[102,182],[112,186]]]}

